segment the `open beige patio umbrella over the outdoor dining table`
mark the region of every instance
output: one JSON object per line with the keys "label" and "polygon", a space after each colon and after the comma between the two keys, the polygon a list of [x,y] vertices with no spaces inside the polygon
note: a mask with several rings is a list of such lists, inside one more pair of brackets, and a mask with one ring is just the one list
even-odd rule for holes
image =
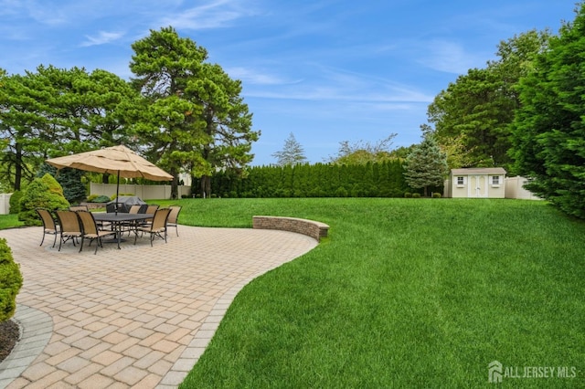
{"label": "open beige patio umbrella over the outdoor dining table", "polygon": [[58,169],[70,167],[88,172],[116,174],[118,176],[116,199],[120,192],[120,177],[143,177],[154,181],[170,181],[173,179],[171,174],[155,166],[154,163],[146,161],[136,152],[123,145],[50,158],[46,162]]}

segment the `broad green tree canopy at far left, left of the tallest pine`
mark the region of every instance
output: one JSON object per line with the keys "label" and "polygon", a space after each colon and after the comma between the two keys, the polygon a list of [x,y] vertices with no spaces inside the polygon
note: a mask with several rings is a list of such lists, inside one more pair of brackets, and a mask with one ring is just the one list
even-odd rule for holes
{"label": "broad green tree canopy at far left, left of the tallest pine", "polygon": [[32,181],[48,156],[110,146],[124,139],[117,115],[133,89],[112,73],[39,66],[36,72],[4,77],[0,86],[2,166],[21,181]]}

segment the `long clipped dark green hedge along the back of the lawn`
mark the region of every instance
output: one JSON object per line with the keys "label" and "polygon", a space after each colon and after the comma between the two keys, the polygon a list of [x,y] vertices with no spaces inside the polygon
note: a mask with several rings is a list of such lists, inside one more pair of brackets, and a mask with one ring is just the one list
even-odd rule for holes
{"label": "long clipped dark green hedge along the back of the lawn", "polygon": [[[412,191],[399,160],[340,165],[329,163],[252,166],[242,178],[226,170],[211,177],[211,196],[219,197],[402,197]],[[193,193],[199,193],[199,181]]]}

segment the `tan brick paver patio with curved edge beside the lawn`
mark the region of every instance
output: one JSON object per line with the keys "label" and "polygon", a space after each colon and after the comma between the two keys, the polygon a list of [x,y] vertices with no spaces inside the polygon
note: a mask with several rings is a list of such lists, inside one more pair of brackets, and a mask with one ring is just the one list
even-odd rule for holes
{"label": "tan brick paver patio with curved edge beside the lawn", "polygon": [[238,291],[317,245],[285,231],[179,226],[167,244],[132,238],[94,255],[70,242],[58,252],[50,236],[39,247],[41,234],[0,231],[25,279],[24,335],[0,363],[0,387],[176,387]]}

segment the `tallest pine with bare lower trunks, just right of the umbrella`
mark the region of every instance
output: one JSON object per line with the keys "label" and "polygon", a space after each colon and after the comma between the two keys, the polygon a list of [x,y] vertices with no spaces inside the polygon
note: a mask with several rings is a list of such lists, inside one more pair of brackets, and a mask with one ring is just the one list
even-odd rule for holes
{"label": "tallest pine with bare lower trunks, just right of the umbrella", "polygon": [[241,82],[206,63],[207,50],[173,27],[151,30],[132,47],[133,85],[145,100],[129,108],[128,117],[144,151],[175,176],[173,196],[181,169],[201,177],[208,194],[209,176],[250,163],[251,142],[260,135],[251,130],[251,114],[239,97]]}

